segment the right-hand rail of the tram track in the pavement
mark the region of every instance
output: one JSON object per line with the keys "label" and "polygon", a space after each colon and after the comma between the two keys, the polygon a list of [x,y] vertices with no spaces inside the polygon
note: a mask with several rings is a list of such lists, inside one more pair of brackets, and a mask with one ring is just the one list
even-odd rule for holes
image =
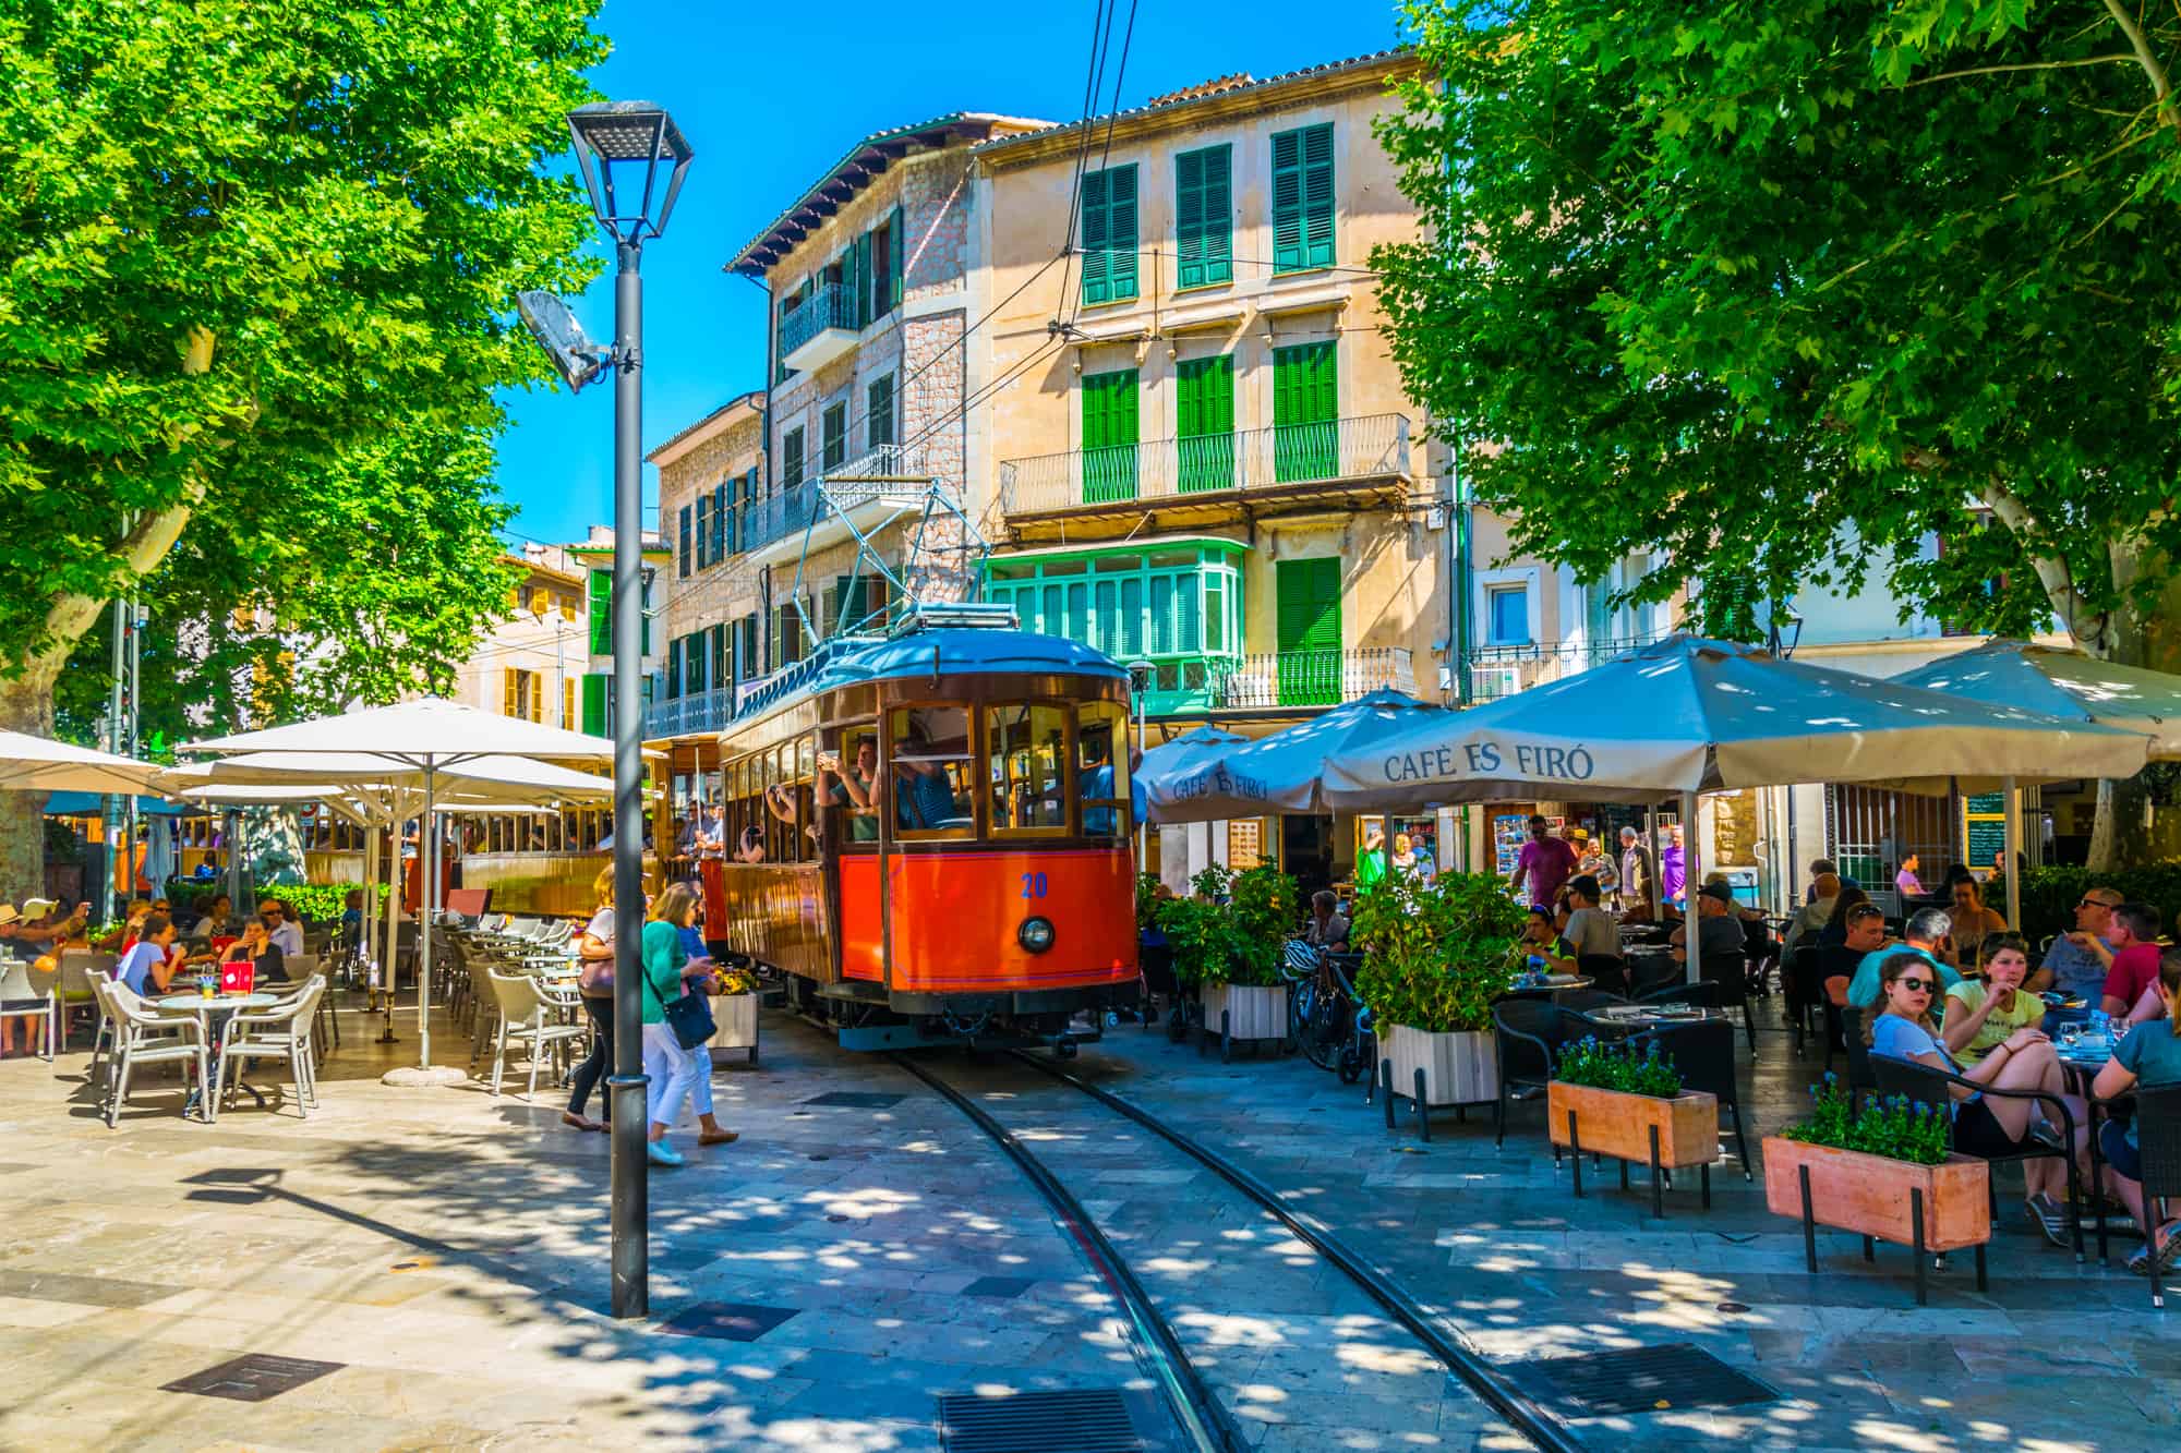
{"label": "right-hand rail of the tram track in the pavement", "polygon": [[1082,1091],[1108,1110],[1143,1126],[1254,1200],[1263,1211],[1272,1213],[1282,1226],[1296,1233],[1298,1239],[1311,1246],[1311,1250],[1337,1265],[1352,1283],[1363,1287],[1363,1292],[1378,1302],[1387,1316],[1400,1322],[1400,1326],[1405,1326],[1409,1335],[1415,1337],[1433,1357],[1437,1357],[1448,1372],[1459,1377],[1470,1392],[1481,1396],[1485,1405],[1505,1418],[1518,1433],[1538,1444],[1542,1453],[1586,1453],[1583,1442],[1575,1438],[1573,1429],[1568,1429],[1549,1407],[1516,1388],[1514,1381],[1483,1353],[1466,1346],[1459,1340],[1459,1331],[1448,1329],[1398,1283],[1357,1257],[1357,1252],[1350,1250],[1350,1246],[1341,1241],[1339,1235],[1335,1235],[1324,1222],[1289,1206],[1278,1191],[1258,1180],[1252,1172],[1243,1169],[1234,1161],[1228,1161],[1219,1152],[1204,1148],[1189,1134],[1162,1121],[1158,1115],[1123,1095],[1114,1095],[1101,1084],[1090,1084],[1088,1080],[1082,1080],[1080,1076],[1073,1076],[1067,1069],[1049,1065],[1032,1054],[1023,1054],[1021,1049],[1010,1049],[1010,1054],[1023,1065]]}

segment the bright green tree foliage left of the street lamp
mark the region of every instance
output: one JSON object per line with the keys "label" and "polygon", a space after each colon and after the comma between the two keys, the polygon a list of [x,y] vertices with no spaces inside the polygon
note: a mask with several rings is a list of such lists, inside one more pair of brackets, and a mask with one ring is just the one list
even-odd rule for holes
{"label": "bright green tree foliage left of the street lamp", "polygon": [[593,271],[543,164],[595,7],[0,0],[0,724],[79,646],[87,724],[131,589],[170,737],[449,681],[506,609],[493,391],[543,377],[510,297]]}

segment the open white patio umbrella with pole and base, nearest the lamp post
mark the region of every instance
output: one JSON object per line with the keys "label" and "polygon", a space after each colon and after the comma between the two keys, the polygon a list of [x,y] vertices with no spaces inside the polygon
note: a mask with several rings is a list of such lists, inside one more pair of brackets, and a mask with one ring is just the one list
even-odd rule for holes
{"label": "open white patio umbrella with pole and base, nearest the lamp post", "polygon": [[[432,903],[438,901],[438,814],[425,812],[425,807],[441,801],[443,772],[460,770],[465,774],[465,790],[484,792],[486,796],[508,785],[517,788],[517,792],[530,790],[541,796],[554,790],[589,792],[589,788],[567,783],[561,788],[508,783],[506,774],[521,768],[543,768],[550,761],[611,761],[613,740],[563,731],[543,722],[526,722],[513,716],[495,716],[451,700],[406,700],[393,707],[364,707],[345,716],[297,722],[292,726],[242,731],[209,742],[194,742],[181,750],[251,757],[286,753],[303,759],[297,766],[305,774],[318,772],[321,777],[327,774],[327,766],[338,757],[356,757],[356,781],[379,788],[375,801],[386,809],[388,822],[401,822],[419,814],[425,816],[423,903],[430,912]],[[510,764],[508,759],[515,757],[530,761],[521,766]],[[266,768],[262,764],[244,764],[229,770],[260,772]],[[611,794],[611,783],[604,779],[591,781],[604,783],[604,794]],[[532,796],[530,801],[541,801],[541,796]],[[515,796],[513,801],[521,798]],[[388,969],[397,910],[399,897],[388,894]],[[390,993],[393,980],[388,977],[388,997]],[[460,1084],[469,1078],[460,1069],[432,1065],[430,921],[419,925],[417,934],[417,1036],[419,1067],[414,1071],[388,1071],[384,1078],[390,1084]]]}

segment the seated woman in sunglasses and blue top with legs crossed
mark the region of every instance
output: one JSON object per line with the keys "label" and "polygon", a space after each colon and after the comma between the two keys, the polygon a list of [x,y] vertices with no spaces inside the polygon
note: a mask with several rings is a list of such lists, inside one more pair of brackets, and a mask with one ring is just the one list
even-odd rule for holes
{"label": "seated woman in sunglasses and blue top with legs crossed", "polygon": [[[2026,964],[2026,960],[2024,960]],[[1863,1036],[1871,1054],[1895,1060],[1913,1060],[1945,1069],[1972,1080],[1972,1084],[1950,1084],[1954,1095],[1954,1148],[1972,1156],[2004,1156],[2022,1148],[2022,1141],[2037,1134],[2052,1139],[2050,1126],[2037,1117],[2035,1100],[1987,1097],[1978,1084],[2011,1091],[2061,1093],[2059,1056],[2044,1030],[2022,1028],[1993,1045],[1976,1065],[1963,1065],[1939,1041],[1939,1030],[1930,1019],[1930,1004],[1939,990],[1939,971],[1921,953],[1893,953],[1878,966],[1882,1006],[1865,1021]],[[2068,1100],[2068,1110],[2083,1124],[2081,1100]],[[2087,1141],[2085,1141],[2087,1145]],[[2076,1148],[2081,1150],[2081,1145]],[[2057,1158],[2024,1161],[2022,1178],[2028,1191],[2028,1215],[2044,1230],[2052,1246],[2068,1246],[2068,1213],[2061,1193],[2068,1189],[2068,1167]]]}

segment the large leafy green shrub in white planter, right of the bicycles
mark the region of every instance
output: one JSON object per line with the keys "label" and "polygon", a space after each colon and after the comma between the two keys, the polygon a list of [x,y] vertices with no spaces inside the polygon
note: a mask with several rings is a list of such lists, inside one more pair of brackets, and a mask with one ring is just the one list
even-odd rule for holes
{"label": "large leafy green shrub in white planter, right of the bicycles", "polygon": [[1485,1032],[1520,969],[1525,918],[1490,873],[1385,877],[1357,894],[1348,918],[1348,940],[1363,951],[1357,995],[1381,1025]]}

